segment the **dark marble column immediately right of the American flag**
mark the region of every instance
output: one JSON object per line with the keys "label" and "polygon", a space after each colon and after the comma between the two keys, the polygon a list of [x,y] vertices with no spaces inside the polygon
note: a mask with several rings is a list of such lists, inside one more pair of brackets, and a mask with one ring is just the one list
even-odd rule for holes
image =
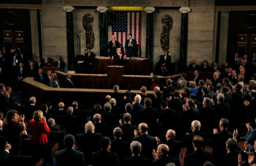
{"label": "dark marble column immediately right of the American flag", "polygon": [[150,59],[151,72],[153,71],[153,12],[155,8],[145,7],[146,11],[146,57]]}

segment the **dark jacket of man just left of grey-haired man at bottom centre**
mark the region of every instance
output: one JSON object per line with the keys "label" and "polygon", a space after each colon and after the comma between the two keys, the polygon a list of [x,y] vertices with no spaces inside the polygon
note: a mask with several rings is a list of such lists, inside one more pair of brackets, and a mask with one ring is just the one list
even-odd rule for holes
{"label": "dark jacket of man just left of grey-haired man at bottom centre", "polygon": [[121,139],[111,141],[111,152],[117,153],[119,161],[132,155],[130,144]]}

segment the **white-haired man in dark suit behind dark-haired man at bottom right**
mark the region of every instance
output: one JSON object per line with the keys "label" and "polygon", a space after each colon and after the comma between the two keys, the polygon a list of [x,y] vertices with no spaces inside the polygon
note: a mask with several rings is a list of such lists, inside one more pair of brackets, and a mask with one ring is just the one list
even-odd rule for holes
{"label": "white-haired man in dark suit behind dark-haired man at bottom right", "polygon": [[204,145],[207,143],[207,134],[200,132],[201,123],[199,121],[193,121],[191,123],[191,131],[192,133],[185,135],[182,141],[182,147],[186,147],[186,155],[194,152],[194,147],[192,144],[192,140],[195,135],[199,135],[204,139]]}

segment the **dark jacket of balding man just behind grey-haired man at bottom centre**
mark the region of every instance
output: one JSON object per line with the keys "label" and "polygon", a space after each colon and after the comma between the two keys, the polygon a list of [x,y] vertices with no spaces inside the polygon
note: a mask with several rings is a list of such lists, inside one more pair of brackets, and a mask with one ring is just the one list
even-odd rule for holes
{"label": "dark jacket of balding man just behind grey-haired man at bottom centre", "polygon": [[156,138],[143,133],[138,137],[134,137],[133,140],[139,141],[142,146],[140,155],[153,161],[152,150],[157,148]]}

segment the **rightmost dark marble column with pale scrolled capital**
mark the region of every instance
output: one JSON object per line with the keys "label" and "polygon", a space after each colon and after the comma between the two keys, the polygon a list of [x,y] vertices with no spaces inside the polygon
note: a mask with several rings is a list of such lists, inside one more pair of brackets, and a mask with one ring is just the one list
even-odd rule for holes
{"label": "rightmost dark marble column with pale scrolled capital", "polygon": [[187,31],[188,31],[188,12],[190,8],[181,7],[181,26],[180,26],[180,71],[185,71],[187,67]]}

